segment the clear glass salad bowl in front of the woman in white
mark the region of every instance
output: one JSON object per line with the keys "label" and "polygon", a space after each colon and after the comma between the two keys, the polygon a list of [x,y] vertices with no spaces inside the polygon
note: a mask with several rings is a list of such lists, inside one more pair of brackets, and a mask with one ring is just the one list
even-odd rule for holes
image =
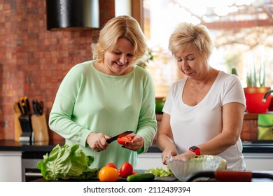
{"label": "clear glass salad bowl in front of the woman in white", "polygon": [[216,171],[221,160],[216,155],[200,155],[189,160],[178,160],[172,156],[166,158],[169,169],[180,181],[185,181],[187,176],[196,172]]}

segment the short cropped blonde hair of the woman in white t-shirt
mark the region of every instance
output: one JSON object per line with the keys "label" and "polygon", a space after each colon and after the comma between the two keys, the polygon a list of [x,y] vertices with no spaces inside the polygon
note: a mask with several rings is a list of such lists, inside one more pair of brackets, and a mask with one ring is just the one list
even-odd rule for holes
{"label": "short cropped blonde hair of the woman in white t-shirt", "polygon": [[183,22],[169,38],[169,50],[173,55],[190,45],[193,45],[200,52],[207,63],[209,62],[214,46],[207,27]]}

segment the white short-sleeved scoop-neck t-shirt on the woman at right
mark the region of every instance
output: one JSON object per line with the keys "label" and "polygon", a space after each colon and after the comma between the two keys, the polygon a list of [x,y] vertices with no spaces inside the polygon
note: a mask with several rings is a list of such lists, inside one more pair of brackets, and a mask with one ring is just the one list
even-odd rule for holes
{"label": "white short-sleeved scoop-neck t-shirt on the woman at right", "polygon": [[[196,106],[188,106],[182,101],[183,87],[187,78],[177,81],[169,90],[163,112],[170,115],[174,143],[178,153],[188,151],[190,146],[198,146],[222,132],[222,107],[230,102],[238,102],[246,107],[244,90],[239,78],[219,71],[206,97]],[[245,170],[241,139],[234,146],[219,154],[228,162],[228,169]]]}

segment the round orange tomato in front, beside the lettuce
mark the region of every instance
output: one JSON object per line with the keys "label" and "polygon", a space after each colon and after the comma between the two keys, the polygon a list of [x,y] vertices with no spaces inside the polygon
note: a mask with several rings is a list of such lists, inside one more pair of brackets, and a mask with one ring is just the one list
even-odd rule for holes
{"label": "round orange tomato in front, beside the lettuce", "polygon": [[99,181],[101,182],[116,182],[118,181],[118,169],[113,167],[102,167],[99,169]]}

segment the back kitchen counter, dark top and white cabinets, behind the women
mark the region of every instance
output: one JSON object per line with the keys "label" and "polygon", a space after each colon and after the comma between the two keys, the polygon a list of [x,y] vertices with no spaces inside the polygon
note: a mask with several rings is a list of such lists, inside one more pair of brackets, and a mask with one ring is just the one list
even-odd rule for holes
{"label": "back kitchen counter, dark top and white cabinets, behind the women", "polygon": [[[39,174],[36,168],[37,162],[43,159],[43,155],[50,153],[57,144],[62,146],[64,141],[38,142],[27,145],[13,140],[0,140],[0,173],[2,178],[0,181],[33,181],[36,179],[35,175]],[[247,170],[273,171],[273,144],[269,141],[263,144],[256,141],[244,142],[243,153]],[[154,141],[147,153],[139,155],[139,163],[135,169],[155,167],[165,166],[161,162],[161,151]],[[18,171],[15,171],[14,168]],[[21,171],[22,175],[20,175]],[[12,172],[13,175],[10,175]],[[2,175],[3,173],[6,176]]]}

